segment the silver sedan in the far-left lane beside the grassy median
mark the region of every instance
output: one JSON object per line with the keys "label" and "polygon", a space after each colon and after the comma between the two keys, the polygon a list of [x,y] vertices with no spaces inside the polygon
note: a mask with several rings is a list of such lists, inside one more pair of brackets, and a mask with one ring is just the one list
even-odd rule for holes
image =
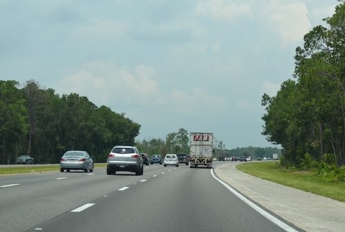
{"label": "silver sedan in the far-left lane beside the grassy median", "polygon": [[66,151],[60,159],[60,171],[83,170],[92,172],[93,160],[86,151]]}

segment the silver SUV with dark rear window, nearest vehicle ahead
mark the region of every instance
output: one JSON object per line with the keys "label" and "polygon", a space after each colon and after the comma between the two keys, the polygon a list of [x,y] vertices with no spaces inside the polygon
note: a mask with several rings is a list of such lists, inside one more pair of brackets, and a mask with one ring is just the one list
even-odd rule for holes
{"label": "silver SUV with dark rear window, nearest vehicle ahead", "polygon": [[137,147],[115,146],[110,151],[107,160],[107,175],[117,171],[135,172],[137,176],[144,173],[144,160]]}

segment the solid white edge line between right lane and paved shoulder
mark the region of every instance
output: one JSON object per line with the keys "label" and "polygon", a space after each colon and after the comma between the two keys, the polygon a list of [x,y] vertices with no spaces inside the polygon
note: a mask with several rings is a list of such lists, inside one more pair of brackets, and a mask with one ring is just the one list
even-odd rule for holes
{"label": "solid white edge line between right lane and paved shoulder", "polygon": [[237,196],[237,198],[241,199],[243,202],[245,202],[246,204],[248,204],[248,206],[250,206],[252,209],[254,209],[255,211],[257,211],[258,213],[260,213],[261,215],[263,215],[265,218],[267,218],[268,220],[270,220],[271,222],[273,222],[274,224],[276,224],[277,226],[279,226],[280,228],[284,229],[287,232],[299,232],[296,231],[295,229],[293,229],[293,227],[289,226],[288,224],[282,222],[281,220],[279,220],[278,218],[275,218],[275,216],[271,215],[270,213],[264,211],[264,209],[258,207],[256,204],[254,204],[253,202],[251,202],[250,200],[248,200],[247,198],[245,198],[244,196],[242,196],[241,193],[237,192],[235,189],[233,189],[232,187],[230,187],[228,184],[226,184],[226,182],[224,182],[223,180],[220,180],[219,178],[217,178],[217,176],[215,176],[215,174],[213,173],[213,169],[211,169],[211,174],[213,176],[213,178],[215,178],[218,182],[220,182],[221,184],[224,185],[224,187],[226,187],[226,189],[228,189],[229,191],[231,191],[232,193],[235,194],[235,196]]}

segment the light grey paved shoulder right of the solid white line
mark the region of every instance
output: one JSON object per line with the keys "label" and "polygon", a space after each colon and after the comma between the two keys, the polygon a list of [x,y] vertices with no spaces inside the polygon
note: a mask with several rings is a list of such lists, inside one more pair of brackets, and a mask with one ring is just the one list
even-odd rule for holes
{"label": "light grey paved shoulder right of the solid white line", "polygon": [[345,202],[250,176],[235,166],[224,162],[214,171],[242,195],[307,232],[345,231]]}

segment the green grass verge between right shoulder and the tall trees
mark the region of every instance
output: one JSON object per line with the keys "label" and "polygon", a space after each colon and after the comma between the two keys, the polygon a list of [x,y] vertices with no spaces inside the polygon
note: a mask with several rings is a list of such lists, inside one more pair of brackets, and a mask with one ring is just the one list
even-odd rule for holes
{"label": "green grass verge between right shoulder and the tall trees", "polygon": [[345,182],[319,178],[315,171],[284,169],[279,162],[250,162],[237,169],[279,184],[345,202]]}

